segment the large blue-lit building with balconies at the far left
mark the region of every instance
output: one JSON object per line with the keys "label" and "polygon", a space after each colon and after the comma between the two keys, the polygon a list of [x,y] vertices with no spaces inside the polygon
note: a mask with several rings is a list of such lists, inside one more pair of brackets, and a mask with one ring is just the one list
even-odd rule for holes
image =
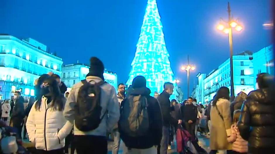
{"label": "large blue-lit building with balconies at the far left", "polygon": [[10,99],[16,90],[35,95],[35,79],[48,72],[61,75],[62,63],[47,52],[46,45],[32,38],[0,35],[0,100]]}

